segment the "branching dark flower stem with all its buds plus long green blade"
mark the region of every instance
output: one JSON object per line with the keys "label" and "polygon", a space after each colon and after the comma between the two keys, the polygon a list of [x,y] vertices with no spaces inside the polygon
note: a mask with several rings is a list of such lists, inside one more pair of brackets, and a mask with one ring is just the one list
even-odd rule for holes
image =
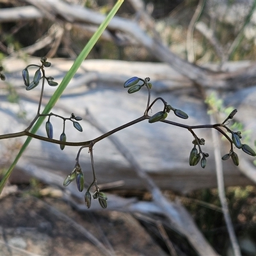
{"label": "branching dark flower stem with all its buds plus long green blade", "polygon": [[[93,160],[93,148],[95,147],[96,143],[100,140],[104,140],[108,136],[111,136],[111,134],[114,134],[115,132],[121,131],[127,127],[130,127],[134,124],[137,124],[139,122],[143,122],[145,120],[148,121],[148,125],[154,125],[157,122],[163,122],[166,125],[175,125],[183,129],[187,129],[192,136],[192,147],[191,152],[188,156],[188,164],[190,166],[196,166],[200,163],[200,166],[202,168],[205,168],[207,165],[207,157],[209,157],[209,154],[207,152],[204,152],[204,145],[205,140],[204,138],[199,138],[196,135],[196,129],[216,129],[220,134],[224,136],[224,138],[230,143],[230,150],[225,154],[222,159],[228,160],[232,159],[232,162],[237,166],[239,165],[239,158],[237,156],[237,153],[235,150],[243,150],[244,153],[255,157],[256,154],[254,150],[249,147],[246,143],[243,143],[242,134],[241,131],[232,131],[228,127],[228,124],[230,123],[230,120],[234,118],[234,115],[237,113],[237,109],[233,109],[231,113],[221,122],[220,124],[202,124],[202,125],[186,125],[181,124],[178,122],[173,122],[170,120],[172,118],[172,115],[175,115],[182,120],[186,120],[189,118],[189,116],[182,111],[181,109],[175,108],[175,106],[172,106],[170,102],[166,102],[162,97],[157,97],[156,99],[151,99],[151,90],[153,88],[152,83],[150,83],[150,78],[145,77],[131,77],[127,81],[124,82],[124,88],[127,89],[128,93],[136,93],[139,92],[141,89],[147,90],[148,97],[147,102],[145,102],[145,111],[141,113],[141,116],[132,120],[131,122],[128,122],[127,124],[121,125],[120,127],[116,127],[115,129],[108,131],[102,135],[100,135],[97,138],[94,138],[90,141],[80,141],[80,142],[72,142],[68,141],[68,131],[66,131],[66,122],[72,122],[74,129],[76,129],[79,132],[83,131],[83,127],[79,124],[79,121],[82,120],[81,116],[77,116],[75,113],[70,113],[70,116],[60,116],[56,115],[55,113],[51,112],[52,107],[57,102],[57,100],[60,98],[61,93],[65,90],[67,87],[67,84],[69,83],[70,79],[76,74],[77,69],[83,62],[84,58],[87,56],[88,52],[90,52],[90,49],[92,49],[95,42],[97,42],[99,36],[106,28],[108,22],[111,20],[113,15],[115,15],[116,11],[122,4],[122,1],[118,1],[113,8],[113,10],[109,13],[106,20],[102,23],[97,33],[92,38],[92,41],[86,45],[83,52],[78,56],[77,60],[74,62],[74,65],[70,68],[69,72],[67,73],[67,76],[63,78],[63,81],[60,83],[56,83],[54,81],[54,77],[47,76],[47,68],[51,68],[51,63],[47,60],[47,58],[43,57],[41,58],[40,65],[28,65],[22,70],[22,78],[24,81],[24,88],[26,90],[33,90],[36,88],[36,86],[41,86],[41,93],[40,93],[40,99],[38,102],[38,109],[35,114],[35,118],[32,120],[31,124],[21,132],[15,132],[12,134],[3,134],[0,135],[0,140],[6,139],[6,138],[15,138],[18,136],[27,136],[27,140],[24,143],[23,147],[21,148],[19,154],[17,155],[15,161],[13,162],[12,166],[10,166],[8,172],[4,175],[3,179],[0,183],[0,192],[3,190],[4,184],[6,184],[6,181],[8,180],[8,177],[10,177],[10,174],[12,173],[12,170],[19,161],[19,158],[22,156],[22,153],[28,147],[29,142],[32,138],[36,138],[38,140],[47,141],[49,143],[56,143],[60,145],[60,150],[65,150],[65,147],[80,147],[76,157],[74,156],[75,163],[73,170],[67,175],[65,180],[63,180],[63,186],[68,186],[71,182],[76,182],[77,189],[80,192],[85,191],[84,193],[84,203],[86,207],[90,208],[92,204],[92,198],[98,200],[100,206],[102,208],[107,207],[107,196],[105,193],[100,191],[99,186],[97,184],[97,177],[96,177],[96,170],[95,170],[95,164]],[[31,68],[36,71],[31,72]],[[0,69],[0,76],[1,79],[5,79],[5,76],[3,74],[3,68]],[[49,100],[47,106],[45,106],[45,109],[41,111],[41,104],[42,104],[42,98],[44,97],[44,88],[45,85],[49,86],[56,86],[57,89],[52,95],[51,99]],[[155,109],[156,102],[161,102],[162,108],[158,109],[158,111],[154,111],[154,115],[150,115],[151,110]],[[157,104],[159,106],[159,104]],[[159,107],[157,107],[159,108]],[[52,125],[52,118],[61,118],[63,121],[63,129],[61,134],[59,134],[58,138],[54,138],[53,136],[53,130],[54,127]],[[46,120],[45,120],[46,119]],[[45,124],[45,136],[39,136],[36,134],[36,131],[40,127],[40,125]],[[93,173],[93,179],[92,182],[90,182],[90,185],[88,188],[84,188],[84,180],[86,180],[86,177],[84,177],[83,173],[83,166],[79,163],[79,157],[81,156],[81,153],[84,148],[87,148],[90,154],[90,160],[92,163],[92,173]]]}

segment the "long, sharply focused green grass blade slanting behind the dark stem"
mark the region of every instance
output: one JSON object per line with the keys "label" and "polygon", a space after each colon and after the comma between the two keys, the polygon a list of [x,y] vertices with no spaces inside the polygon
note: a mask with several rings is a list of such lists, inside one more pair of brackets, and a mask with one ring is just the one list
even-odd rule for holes
{"label": "long, sharply focused green grass blade slanting behind the dark stem", "polygon": [[[81,64],[83,63],[84,59],[88,56],[89,52],[92,50],[92,48],[96,44],[97,40],[99,40],[100,35],[102,35],[103,31],[107,28],[109,22],[111,21],[111,19],[113,19],[113,17],[115,16],[116,12],[118,11],[118,9],[120,8],[120,6],[122,5],[123,2],[124,2],[124,0],[118,0],[116,2],[115,6],[111,10],[111,12],[109,12],[109,14],[106,17],[106,19],[102,22],[102,24],[100,24],[99,29],[97,29],[97,31],[92,36],[92,38],[90,39],[88,44],[85,45],[83,51],[79,54],[79,56],[77,56],[76,61],[74,61],[74,64],[72,65],[70,70],[68,70],[66,76],[63,78],[63,80],[61,81],[61,83],[58,86],[57,90],[54,92],[54,94],[52,95],[52,97],[49,100],[48,104],[45,106],[45,109],[42,112],[43,114],[48,114],[51,111],[51,109],[53,108],[53,106],[56,104],[58,99],[60,99],[61,94],[63,93],[63,91],[67,87],[68,83],[70,82],[72,77],[76,74],[78,68],[81,66]],[[44,119],[45,119],[45,116],[41,116],[40,118],[38,118],[38,120],[36,121],[36,124],[33,126],[33,129],[31,130],[31,133],[36,133],[36,131],[38,131],[40,125],[42,125],[42,123],[44,122]],[[22,154],[24,153],[24,151],[28,147],[28,145],[29,145],[31,140],[32,140],[31,137],[27,138],[27,140],[22,145],[22,148],[20,148],[20,151],[17,154],[17,156],[15,157],[12,165],[10,166],[8,171],[4,174],[4,177],[3,177],[3,179],[0,182],[0,195],[1,195],[2,191],[3,191],[3,188],[4,188],[7,180],[9,179],[9,177],[10,177],[12,171],[13,171],[13,168],[18,163],[20,157],[22,156]]]}

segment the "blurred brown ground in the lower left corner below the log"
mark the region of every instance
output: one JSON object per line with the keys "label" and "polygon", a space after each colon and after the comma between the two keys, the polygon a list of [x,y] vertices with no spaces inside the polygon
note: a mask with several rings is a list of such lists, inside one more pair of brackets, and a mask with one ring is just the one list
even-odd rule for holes
{"label": "blurred brown ground in the lower left corner below the log", "polygon": [[58,198],[24,193],[4,196],[0,204],[3,256],[166,255],[131,214],[77,212]]}

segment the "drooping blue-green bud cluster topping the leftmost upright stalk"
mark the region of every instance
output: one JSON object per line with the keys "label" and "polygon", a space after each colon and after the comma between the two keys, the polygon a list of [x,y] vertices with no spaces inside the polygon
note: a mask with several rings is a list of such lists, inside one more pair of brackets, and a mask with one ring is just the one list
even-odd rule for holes
{"label": "drooping blue-green bud cluster topping the leftmost upright stalk", "polygon": [[[42,78],[46,79],[47,83],[50,86],[57,86],[58,85],[57,82],[53,81],[54,78],[52,76],[46,77],[45,74],[44,74],[44,68],[51,67],[51,62],[47,61],[46,57],[41,58],[40,61],[41,61],[42,65],[31,64],[31,65],[28,65],[26,68],[24,68],[24,70],[22,70],[22,77],[23,77],[23,81],[24,81],[24,84],[26,86],[27,91],[36,88],[36,86],[38,86],[38,84],[40,83],[40,80]],[[30,67],[38,68],[36,70],[34,76],[33,76],[33,79],[30,79],[30,77],[29,77],[28,69]]]}

